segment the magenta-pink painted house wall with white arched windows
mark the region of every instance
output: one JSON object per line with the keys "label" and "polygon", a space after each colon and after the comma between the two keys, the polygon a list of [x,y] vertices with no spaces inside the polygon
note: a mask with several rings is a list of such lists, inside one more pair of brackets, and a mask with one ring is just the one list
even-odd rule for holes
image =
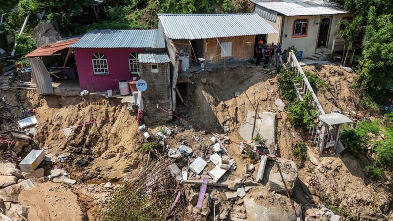
{"label": "magenta-pink painted house wall with white arched windows", "polygon": [[[130,80],[129,55],[137,51],[143,52],[143,48],[75,48],[75,62],[77,64],[79,85],[82,90],[106,91],[119,89],[119,81]],[[91,58],[93,54],[100,52],[108,60],[109,75],[93,75]]]}

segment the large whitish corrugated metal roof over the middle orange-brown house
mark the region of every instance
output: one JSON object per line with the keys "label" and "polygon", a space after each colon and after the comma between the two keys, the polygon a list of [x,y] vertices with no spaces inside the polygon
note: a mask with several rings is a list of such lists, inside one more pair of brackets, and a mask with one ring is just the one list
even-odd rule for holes
{"label": "large whitish corrugated metal roof over the middle orange-brown house", "polygon": [[158,14],[170,39],[209,39],[277,33],[258,14]]}

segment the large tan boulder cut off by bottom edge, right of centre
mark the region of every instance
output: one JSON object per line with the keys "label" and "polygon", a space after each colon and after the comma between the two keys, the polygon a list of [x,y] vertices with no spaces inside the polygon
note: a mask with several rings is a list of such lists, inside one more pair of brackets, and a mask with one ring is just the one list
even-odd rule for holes
{"label": "large tan boulder cut off by bottom edge, right of centre", "polygon": [[[277,197],[281,197],[281,199],[277,199]],[[288,197],[275,194],[273,198],[275,200],[269,202],[258,197],[245,196],[243,200],[247,218],[254,221],[297,221],[297,216]],[[301,206],[294,203],[297,215],[302,217]]]}

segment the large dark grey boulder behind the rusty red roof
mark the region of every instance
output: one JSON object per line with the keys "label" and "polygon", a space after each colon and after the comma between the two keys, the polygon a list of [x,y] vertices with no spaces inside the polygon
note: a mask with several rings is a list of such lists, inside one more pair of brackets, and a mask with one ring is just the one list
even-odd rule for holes
{"label": "large dark grey boulder behind the rusty red roof", "polygon": [[64,34],[60,30],[56,21],[52,21],[49,24],[46,22],[40,22],[33,31],[33,38],[37,47],[56,43],[63,37]]}

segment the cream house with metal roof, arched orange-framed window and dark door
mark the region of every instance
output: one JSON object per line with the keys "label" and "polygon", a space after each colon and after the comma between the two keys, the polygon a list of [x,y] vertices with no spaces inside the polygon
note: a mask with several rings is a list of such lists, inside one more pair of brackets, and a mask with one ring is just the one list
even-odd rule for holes
{"label": "cream house with metal roof, arched orange-framed window and dark door", "polygon": [[254,12],[264,18],[278,34],[269,34],[267,43],[280,42],[286,49],[295,45],[303,57],[327,59],[343,50],[344,40],[337,34],[341,19],[353,15],[328,0],[252,0]]}

